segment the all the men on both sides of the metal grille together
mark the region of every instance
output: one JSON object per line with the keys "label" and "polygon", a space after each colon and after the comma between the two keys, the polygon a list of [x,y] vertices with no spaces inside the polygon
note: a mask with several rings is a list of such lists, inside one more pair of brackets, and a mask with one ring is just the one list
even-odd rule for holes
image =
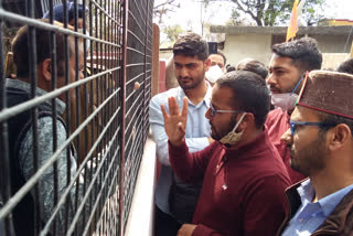
{"label": "all the men on both sides of the metal grille together", "polygon": [[[50,32],[35,31],[42,45],[36,47],[38,95],[67,85],[65,69],[72,79],[68,83],[83,77],[84,42],[75,44],[68,36],[66,67],[64,35],[55,35],[56,69],[47,43]],[[23,26],[12,42],[17,75],[6,83],[9,107],[31,97],[28,41],[29,28]],[[161,163],[154,197],[156,236],[352,235],[353,61],[345,61],[336,71],[320,71],[322,54],[311,37],[275,44],[271,50],[268,67],[244,58],[226,68],[225,55],[208,55],[207,43],[199,34],[178,37],[171,65],[179,86],[156,95],[149,106]],[[39,165],[53,154],[47,149],[54,142],[53,130],[56,146],[66,141],[62,114],[76,95],[74,89],[64,95],[38,107]],[[9,120],[12,194],[35,169],[29,112]],[[67,178],[74,178],[77,169],[76,159],[74,147],[62,152],[58,183],[54,184],[54,170],[49,169],[40,197],[28,193],[17,205],[13,230],[18,235],[35,232],[31,217],[35,205],[42,210],[42,222],[49,219],[53,192],[60,196],[66,190]],[[75,190],[68,193],[71,203],[82,197],[84,186],[79,181],[77,185],[77,196]],[[67,206],[69,210],[58,213],[54,229],[58,234],[64,215],[71,221],[75,214]]]}

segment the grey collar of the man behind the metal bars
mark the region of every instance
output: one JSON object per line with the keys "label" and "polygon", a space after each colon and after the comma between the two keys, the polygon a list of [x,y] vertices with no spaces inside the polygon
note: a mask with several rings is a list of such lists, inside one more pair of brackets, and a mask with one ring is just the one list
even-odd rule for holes
{"label": "grey collar of the man behind the metal bars", "polygon": [[[6,86],[7,87],[11,87],[11,88],[18,88],[18,89],[21,89],[21,90],[24,90],[26,93],[31,93],[31,84],[26,83],[26,82],[22,82],[20,79],[11,79],[11,78],[7,78],[7,82],[6,82]],[[42,88],[39,88],[36,87],[35,88],[35,96],[42,96],[42,95],[45,95],[47,94],[47,92],[43,90]],[[49,101],[44,101],[44,103],[51,103],[51,100]],[[65,111],[65,103],[62,101],[61,99],[58,98],[55,98],[55,103],[56,103],[56,106],[57,106],[57,112],[58,114],[64,114]]]}

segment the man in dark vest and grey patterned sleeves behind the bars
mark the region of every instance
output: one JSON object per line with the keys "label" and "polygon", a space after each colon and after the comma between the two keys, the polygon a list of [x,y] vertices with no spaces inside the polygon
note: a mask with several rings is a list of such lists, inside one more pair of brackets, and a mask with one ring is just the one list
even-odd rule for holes
{"label": "man in dark vest and grey patterned sleeves behind the bars", "polygon": [[[49,23],[49,20],[41,20]],[[63,26],[58,22],[54,22],[56,26]],[[73,30],[72,28],[68,28]],[[65,41],[64,35],[56,33],[56,88],[62,88],[65,83],[65,69],[68,69],[69,83],[75,82],[75,77],[78,73],[78,78],[83,78],[84,60],[83,42],[78,41],[78,65],[75,65],[75,41],[73,36],[68,36],[69,57],[68,67],[65,68]],[[31,99],[31,78],[30,78],[30,62],[29,62],[29,26],[22,26],[15,37],[12,41],[13,61],[17,66],[17,78],[6,81],[6,93],[8,107],[17,106]],[[35,29],[35,42],[36,42],[36,79],[38,86],[35,88],[35,95],[42,96],[49,92],[52,92],[53,72],[51,58],[51,32],[43,29]],[[75,99],[75,89],[69,89],[69,100]],[[69,103],[65,99],[65,93],[55,98],[55,105],[57,110],[56,122],[56,141],[57,148],[60,148],[67,138],[65,122],[62,118],[65,111],[65,103]],[[52,100],[45,100],[38,105],[38,167],[42,167],[47,159],[53,154],[53,106]],[[11,195],[17,193],[22,185],[34,174],[34,157],[33,157],[33,127],[32,127],[31,110],[25,110],[14,117],[11,117],[8,121],[9,125],[9,146],[10,146],[10,167],[11,167]],[[60,199],[66,189],[67,184],[67,169],[71,170],[71,180],[77,170],[76,154],[74,147],[71,146],[69,157],[67,157],[66,149],[60,154],[57,159],[57,197]],[[71,160],[71,167],[67,167],[67,158]],[[77,181],[78,182],[78,181]],[[76,184],[78,184],[76,182]],[[79,183],[79,197],[82,197],[83,183]],[[68,225],[75,214],[75,187],[72,189],[69,195],[68,218],[65,217],[65,208],[62,207],[58,212],[58,221],[56,221],[57,232],[56,234],[64,234],[64,222],[67,221]],[[42,229],[43,225],[34,226],[34,208],[36,204],[40,204],[42,210],[40,215],[40,223],[45,224],[53,213],[54,205],[54,170],[53,168],[46,169],[40,180],[39,201],[33,196],[34,192],[29,192],[14,207],[13,210],[13,224],[17,235],[35,235]],[[64,204],[65,206],[65,204]],[[81,219],[82,221],[82,217]],[[79,222],[79,227],[84,226],[83,222]]]}

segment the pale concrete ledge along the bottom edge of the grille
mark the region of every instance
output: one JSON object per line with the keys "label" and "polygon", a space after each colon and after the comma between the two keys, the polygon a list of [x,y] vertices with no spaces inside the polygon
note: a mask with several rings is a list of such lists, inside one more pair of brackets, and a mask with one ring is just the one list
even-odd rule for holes
{"label": "pale concrete ledge along the bottom edge of the grille", "polygon": [[148,137],[125,235],[151,236],[153,234],[154,180],[156,143],[151,137]]}

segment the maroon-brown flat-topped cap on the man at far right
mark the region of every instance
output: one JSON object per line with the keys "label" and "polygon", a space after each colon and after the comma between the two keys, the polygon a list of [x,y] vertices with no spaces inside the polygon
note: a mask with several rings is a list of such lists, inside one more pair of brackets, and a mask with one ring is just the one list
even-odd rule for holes
{"label": "maroon-brown flat-topped cap on the man at far right", "polygon": [[297,105],[353,119],[353,75],[329,71],[308,73]]}

